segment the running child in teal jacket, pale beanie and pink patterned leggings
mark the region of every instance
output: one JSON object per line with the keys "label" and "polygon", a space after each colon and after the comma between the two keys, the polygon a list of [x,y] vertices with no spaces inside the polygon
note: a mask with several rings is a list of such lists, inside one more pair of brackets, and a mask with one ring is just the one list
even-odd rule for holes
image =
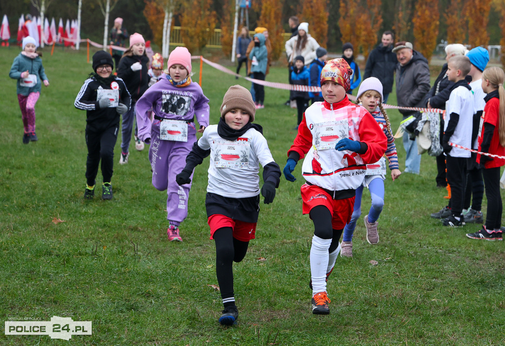
{"label": "running child in teal jacket, pale beanie and pink patterned leggings", "polygon": [[40,96],[42,83],[49,86],[49,81],[42,66],[42,53],[36,51],[35,39],[23,38],[23,50],[14,58],[9,77],[17,79],[17,94],[21,119],[23,120],[23,144],[38,140],[35,133],[35,103]]}

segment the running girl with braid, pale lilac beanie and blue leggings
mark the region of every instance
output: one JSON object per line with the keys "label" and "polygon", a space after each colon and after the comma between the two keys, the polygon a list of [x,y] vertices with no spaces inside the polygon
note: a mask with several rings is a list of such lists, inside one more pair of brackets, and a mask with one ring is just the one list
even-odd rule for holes
{"label": "running girl with braid, pale lilac beanie and blue leggings", "polygon": [[389,161],[389,169],[391,170],[391,179],[394,181],[401,174],[398,169],[398,156],[396,154],[396,146],[391,133],[391,124],[387,117],[386,111],[382,107],[382,83],[375,77],[367,78],[361,83],[358,89],[358,101],[372,114],[372,117],[377,121],[382,131],[387,137],[386,157],[381,157],[374,164],[367,164],[365,173],[365,181],[356,189],[356,199],[354,201],[354,211],[350,218],[350,222],[345,225],[344,235],[340,246],[341,256],[352,257],[352,235],[356,228],[356,222],[361,215],[361,198],[363,189],[367,187],[370,190],[372,197],[372,206],[368,215],[365,216],[365,227],[367,229],[367,241],[369,244],[377,244],[379,242],[379,234],[377,225],[380,213],[384,207],[384,180],[386,179],[386,158]]}

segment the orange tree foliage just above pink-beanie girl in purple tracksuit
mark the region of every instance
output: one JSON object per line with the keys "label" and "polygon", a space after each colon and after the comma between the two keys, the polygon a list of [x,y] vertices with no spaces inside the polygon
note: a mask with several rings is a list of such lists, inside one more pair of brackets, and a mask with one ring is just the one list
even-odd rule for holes
{"label": "orange tree foliage just above pink-beanie girl in purple tracksuit", "polygon": [[180,14],[182,42],[191,53],[201,52],[216,28],[216,12],[212,0],[190,0]]}

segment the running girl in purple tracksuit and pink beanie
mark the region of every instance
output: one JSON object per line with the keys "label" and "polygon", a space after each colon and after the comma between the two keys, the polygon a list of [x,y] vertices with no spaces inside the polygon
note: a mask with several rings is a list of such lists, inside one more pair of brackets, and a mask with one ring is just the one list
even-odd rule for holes
{"label": "running girl in purple tracksuit and pink beanie", "polygon": [[[196,142],[196,132],[204,132],[209,126],[209,99],[198,83],[191,81],[191,54],[187,48],[175,48],[167,65],[169,74],[163,75],[137,101],[137,126],[140,140],[150,143],[153,186],[167,190],[168,240],[182,242],[179,224],[187,216],[191,184],[179,186],[175,176],[186,164],[186,156]],[[199,130],[195,128],[195,118]]]}

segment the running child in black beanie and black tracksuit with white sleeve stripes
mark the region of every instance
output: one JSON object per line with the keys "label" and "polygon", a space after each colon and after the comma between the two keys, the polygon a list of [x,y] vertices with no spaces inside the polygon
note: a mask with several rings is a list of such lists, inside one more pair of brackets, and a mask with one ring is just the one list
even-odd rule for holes
{"label": "running child in black beanie and black tracksuit with white sleeve stripes", "polygon": [[75,98],[74,105],[86,110],[86,188],[84,198],[94,197],[98,164],[102,160],[102,199],[112,199],[114,146],[118,139],[119,120],[130,106],[130,94],[121,78],[112,75],[111,54],[98,50],[93,55],[93,73]]}

